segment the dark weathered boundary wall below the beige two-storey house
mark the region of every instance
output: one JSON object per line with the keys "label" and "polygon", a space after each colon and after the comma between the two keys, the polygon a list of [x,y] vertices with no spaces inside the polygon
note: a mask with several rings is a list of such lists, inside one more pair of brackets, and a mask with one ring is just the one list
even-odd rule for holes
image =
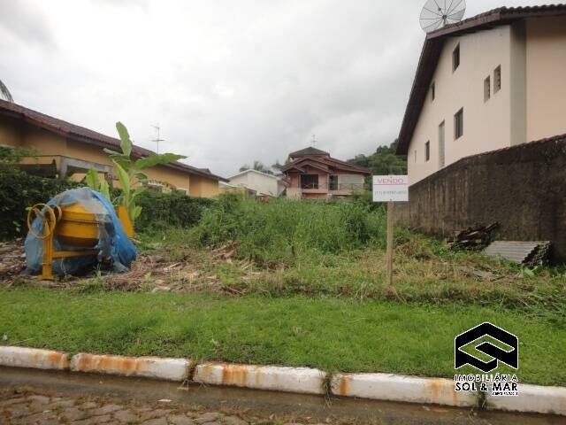
{"label": "dark weathered boundary wall below the beige two-storey house", "polygon": [[436,236],[499,221],[498,238],[552,241],[566,261],[566,135],[462,158],[409,187],[397,225]]}

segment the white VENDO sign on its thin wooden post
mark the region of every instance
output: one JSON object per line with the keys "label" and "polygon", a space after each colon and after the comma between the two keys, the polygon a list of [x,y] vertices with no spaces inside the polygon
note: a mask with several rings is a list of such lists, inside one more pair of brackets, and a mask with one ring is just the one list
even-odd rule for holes
{"label": "white VENDO sign on its thin wooden post", "polygon": [[387,203],[387,285],[393,286],[394,203],[409,201],[409,176],[374,175],[373,202]]}

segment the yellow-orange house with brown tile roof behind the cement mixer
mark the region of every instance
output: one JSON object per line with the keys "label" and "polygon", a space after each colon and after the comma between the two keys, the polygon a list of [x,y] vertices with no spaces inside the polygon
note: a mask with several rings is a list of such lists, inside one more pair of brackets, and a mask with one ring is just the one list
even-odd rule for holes
{"label": "yellow-orange house with brown tile roof behind the cement mixer", "polygon": [[[116,182],[111,160],[103,149],[116,151],[119,143],[115,137],[0,99],[0,146],[34,151],[34,157],[24,158],[20,165],[34,174],[69,177],[80,182],[94,168],[107,180]],[[136,145],[132,149],[134,158],[146,158],[153,153]],[[146,174],[153,189],[175,190],[193,197],[214,197],[220,193],[219,182],[228,182],[208,168],[180,161],[154,166]]]}

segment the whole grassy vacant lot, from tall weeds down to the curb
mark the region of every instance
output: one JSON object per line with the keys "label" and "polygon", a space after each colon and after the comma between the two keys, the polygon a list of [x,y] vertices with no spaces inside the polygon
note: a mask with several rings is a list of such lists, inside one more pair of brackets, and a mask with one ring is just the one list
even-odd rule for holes
{"label": "whole grassy vacant lot, from tall weeds down to the curb", "polygon": [[[454,374],[454,337],[483,321],[516,333],[519,378],[566,384],[566,277],[454,252],[353,203],[224,197],[195,228],[138,237],[127,274],[0,290],[4,344],[325,370]],[[498,369],[502,371],[504,369]]]}

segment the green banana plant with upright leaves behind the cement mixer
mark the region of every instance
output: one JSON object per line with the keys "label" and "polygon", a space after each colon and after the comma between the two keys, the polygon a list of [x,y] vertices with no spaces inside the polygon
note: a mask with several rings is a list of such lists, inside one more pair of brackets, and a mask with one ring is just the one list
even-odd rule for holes
{"label": "green banana plant with upright leaves behind the cement mixer", "polygon": [[[134,223],[135,219],[142,213],[142,207],[135,205],[135,199],[147,190],[145,185],[148,182],[148,176],[143,171],[152,166],[167,164],[187,157],[174,153],[152,153],[148,157],[134,159],[132,158],[133,143],[130,140],[126,126],[121,122],[117,122],[116,129],[120,137],[121,152],[104,149],[104,152],[108,153],[111,158],[114,174],[118,177],[122,189],[121,195],[113,200],[113,204],[126,206],[130,220]],[[89,185],[89,187],[91,186]],[[91,189],[94,188],[91,187]]]}

